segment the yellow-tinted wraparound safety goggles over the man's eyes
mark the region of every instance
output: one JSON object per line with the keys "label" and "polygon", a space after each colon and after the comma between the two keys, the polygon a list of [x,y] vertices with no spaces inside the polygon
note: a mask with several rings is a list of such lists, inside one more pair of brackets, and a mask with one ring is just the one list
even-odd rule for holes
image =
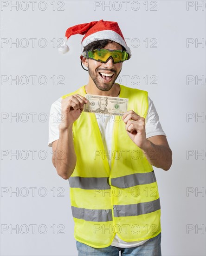
{"label": "yellow-tinted wraparound safety goggles over the man's eyes", "polygon": [[111,57],[114,63],[127,61],[130,55],[124,50],[94,49],[93,51],[85,51],[82,53],[85,58],[106,63]]}

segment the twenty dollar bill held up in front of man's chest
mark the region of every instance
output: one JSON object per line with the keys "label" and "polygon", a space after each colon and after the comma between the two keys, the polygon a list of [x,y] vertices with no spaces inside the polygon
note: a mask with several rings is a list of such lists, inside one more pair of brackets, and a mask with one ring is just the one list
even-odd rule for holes
{"label": "twenty dollar bill held up in front of man's chest", "polygon": [[84,104],[84,112],[105,113],[111,115],[123,115],[127,112],[127,98],[107,97],[100,95],[86,94],[85,98],[89,101]]}

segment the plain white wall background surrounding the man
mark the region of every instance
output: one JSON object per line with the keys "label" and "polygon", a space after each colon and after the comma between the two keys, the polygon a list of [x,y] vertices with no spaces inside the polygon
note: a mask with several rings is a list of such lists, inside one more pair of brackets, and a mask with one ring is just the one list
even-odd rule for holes
{"label": "plain white wall background surrounding the man", "polygon": [[[17,3],[19,10],[12,7],[12,3]],[[173,151],[169,171],[154,168],[161,199],[162,255],[206,255],[206,120],[204,117],[195,120],[195,115],[206,115],[206,82],[195,84],[194,80],[187,85],[187,76],[206,79],[206,1],[148,1],[148,10],[147,1],[128,1],[127,8],[122,1],[104,3],[110,7],[104,7],[103,1],[87,0],[43,1],[38,7],[37,1],[32,10],[29,1],[1,1],[1,112],[7,113],[1,113],[0,138],[2,256],[77,255],[69,184],[57,175],[52,165],[48,117],[54,101],[88,82],[88,72],[82,69],[79,58],[84,35],[71,36],[70,52],[65,55],[58,53],[57,40],[64,38],[68,27],[101,19],[118,22],[132,51],[131,59],[123,63],[122,80],[116,82],[148,91]],[[197,7],[201,3],[204,6]],[[188,10],[187,5],[191,6]],[[36,39],[33,47],[31,38]],[[148,47],[144,42],[146,38]],[[157,47],[151,48],[154,41],[150,40],[154,38]],[[194,41],[188,47],[187,38]],[[17,45],[10,45],[17,39]],[[23,47],[26,40],[22,39],[28,41],[26,47]],[[46,47],[38,45],[40,39],[45,39]],[[136,39],[139,47],[135,47]],[[204,44],[195,46],[195,40],[202,39]],[[51,40],[56,42],[55,46]],[[40,43],[44,45],[44,41]],[[20,81],[21,76],[31,75],[37,76],[33,85],[31,78],[25,85],[26,80]],[[45,85],[40,84],[43,79],[38,82],[42,75],[47,78]],[[64,77],[63,85],[57,84],[59,75]],[[129,76],[127,81],[126,75]],[[144,79],[147,75],[148,85]],[[157,77],[157,85],[150,84],[152,75]],[[19,76],[19,85],[12,81],[16,76]],[[52,76],[56,77],[54,85]],[[139,83],[136,76],[140,78]],[[8,81],[4,81],[6,77]],[[23,121],[26,115],[22,113],[29,117],[26,122]],[[37,113],[33,121],[29,113]],[[40,113],[45,113],[47,120],[41,121],[45,115],[39,116]],[[187,120],[187,113],[192,113],[189,115],[194,118]],[[19,118],[10,120],[12,115],[19,115]],[[19,159],[12,155],[17,150]],[[31,150],[36,150],[34,159]],[[204,154],[197,155],[195,150],[197,153],[203,150]],[[40,159],[44,158],[45,151],[47,156]],[[37,188],[34,196],[31,187]],[[42,187],[47,191],[45,196],[40,196],[45,192],[39,189]],[[10,195],[9,192],[17,188],[19,192]],[[62,191],[59,188],[64,189],[61,194],[64,196],[57,196]],[[187,196],[188,189],[194,192]],[[195,189],[203,193],[195,195]],[[29,194],[23,196],[26,191]],[[37,225],[34,234],[32,224]],[[19,225],[19,234],[12,230],[16,225]],[[47,227],[45,234],[41,234],[43,226],[38,231],[40,225]],[[54,225],[55,231],[51,228]],[[6,227],[8,229],[3,230]],[[23,234],[25,227],[29,229]],[[61,227],[64,234],[58,234]],[[194,229],[188,231],[188,228]]]}

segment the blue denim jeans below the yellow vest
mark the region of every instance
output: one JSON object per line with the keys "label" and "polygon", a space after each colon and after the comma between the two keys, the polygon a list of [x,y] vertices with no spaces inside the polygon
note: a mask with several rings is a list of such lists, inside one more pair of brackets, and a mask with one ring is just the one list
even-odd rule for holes
{"label": "blue denim jeans below the yellow vest", "polygon": [[94,248],[77,241],[78,256],[161,256],[161,233],[147,242],[137,247],[120,248],[108,246],[104,248]]}

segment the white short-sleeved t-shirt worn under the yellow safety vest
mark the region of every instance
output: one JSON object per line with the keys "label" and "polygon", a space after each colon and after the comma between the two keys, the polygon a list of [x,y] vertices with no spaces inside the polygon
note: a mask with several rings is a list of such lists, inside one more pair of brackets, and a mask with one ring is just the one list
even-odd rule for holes
{"label": "white short-sleeved t-shirt worn under the yellow safety vest", "polygon": [[[59,129],[58,126],[60,124],[62,115],[61,113],[61,98],[55,101],[50,110],[50,118],[49,118],[49,141],[48,146],[52,147],[52,142],[59,139]],[[109,166],[111,168],[111,143],[112,143],[112,130],[114,119],[110,114],[103,114],[103,113],[96,113],[97,123],[99,125],[99,129],[102,134],[102,140],[105,150],[109,153],[108,161]],[[156,135],[165,135],[164,131],[161,128],[161,123],[159,121],[159,116],[156,112],[155,106],[153,101],[148,97],[148,115],[145,118],[145,130],[146,130],[146,138],[156,136]],[[111,245],[121,248],[130,248],[139,246],[145,243],[147,240],[136,241],[136,242],[125,242],[121,240],[118,235],[116,234],[114,240],[112,241]]]}

